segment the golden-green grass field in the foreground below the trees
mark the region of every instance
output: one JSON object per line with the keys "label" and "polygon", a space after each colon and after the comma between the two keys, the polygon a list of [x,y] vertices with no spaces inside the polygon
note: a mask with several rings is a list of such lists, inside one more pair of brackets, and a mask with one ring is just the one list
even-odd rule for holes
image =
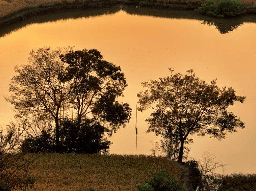
{"label": "golden-green grass field in the foreground below the trees", "polygon": [[[36,157],[36,155],[35,155]],[[144,155],[87,155],[47,153],[30,171],[36,179],[36,191],[95,190],[137,191],[160,170],[181,180],[181,166],[163,157]]]}

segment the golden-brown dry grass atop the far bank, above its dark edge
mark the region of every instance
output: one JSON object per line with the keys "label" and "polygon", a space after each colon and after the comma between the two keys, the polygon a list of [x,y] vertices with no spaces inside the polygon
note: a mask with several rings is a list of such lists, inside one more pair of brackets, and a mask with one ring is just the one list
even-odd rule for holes
{"label": "golden-brown dry grass atop the far bank, above its dark edge", "polygon": [[[82,4],[86,2],[104,0],[0,0],[0,20],[19,12],[42,7],[53,7],[57,5]],[[206,0],[145,0],[156,3],[167,4],[203,4]],[[247,8],[256,9],[256,0],[240,0]]]}

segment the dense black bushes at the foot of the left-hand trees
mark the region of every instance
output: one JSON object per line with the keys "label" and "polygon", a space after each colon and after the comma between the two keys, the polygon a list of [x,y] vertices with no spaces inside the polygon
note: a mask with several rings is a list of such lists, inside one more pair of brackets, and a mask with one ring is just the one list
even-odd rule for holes
{"label": "dense black bushes at the foot of the left-hand trees", "polygon": [[[104,154],[110,141],[104,137],[105,127],[98,122],[84,120],[80,125],[71,119],[60,120],[60,152]],[[55,132],[42,131],[37,137],[29,136],[22,145],[22,152],[55,152]]]}

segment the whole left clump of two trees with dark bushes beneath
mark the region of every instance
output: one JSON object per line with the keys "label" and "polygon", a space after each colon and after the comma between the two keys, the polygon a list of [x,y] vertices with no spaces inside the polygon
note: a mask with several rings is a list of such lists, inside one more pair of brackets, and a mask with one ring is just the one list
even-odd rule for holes
{"label": "whole left clump of two trees with dark bushes beneath", "polygon": [[[88,153],[92,147],[87,145],[96,143],[89,153],[106,152],[110,142],[103,138],[104,132],[112,136],[131,118],[129,105],[116,100],[127,86],[124,73],[96,49],[40,48],[15,71],[9,86],[12,94],[5,99],[29,136],[25,139],[29,150],[35,146],[29,144],[30,137],[38,140],[43,135],[49,151]],[[85,141],[89,137],[90,142]]]}

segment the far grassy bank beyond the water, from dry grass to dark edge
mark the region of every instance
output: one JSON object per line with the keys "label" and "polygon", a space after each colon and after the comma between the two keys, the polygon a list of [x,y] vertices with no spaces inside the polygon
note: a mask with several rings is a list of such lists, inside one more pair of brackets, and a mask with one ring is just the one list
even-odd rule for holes
{"label": "far grassy bank beyond the water, from dry grass to dark edge", "polygon": [[[244,3],[248,13],[256,13],[255,0],[240,1]],[[99,8],[116,4],[195,9],[205,2],[206,0],[0,0],[0,27],[37,14],[66,9]],[[4,21],[6,18],[8,21]]]}

